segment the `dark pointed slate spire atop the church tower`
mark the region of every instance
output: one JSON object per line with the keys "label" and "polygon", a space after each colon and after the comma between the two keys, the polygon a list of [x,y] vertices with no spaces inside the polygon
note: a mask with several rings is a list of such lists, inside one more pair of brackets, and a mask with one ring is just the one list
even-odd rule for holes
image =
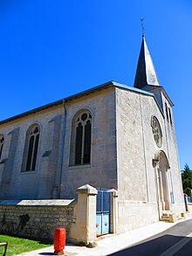
{"label": "dark pointed slate spire atop the church tower", "polygon": [[148,52],[145,35],[143,33],[141,52],[134,78],[134,87],[142,89],[145,86],[160,86],[160,83],[155,73],[154,64]]}

